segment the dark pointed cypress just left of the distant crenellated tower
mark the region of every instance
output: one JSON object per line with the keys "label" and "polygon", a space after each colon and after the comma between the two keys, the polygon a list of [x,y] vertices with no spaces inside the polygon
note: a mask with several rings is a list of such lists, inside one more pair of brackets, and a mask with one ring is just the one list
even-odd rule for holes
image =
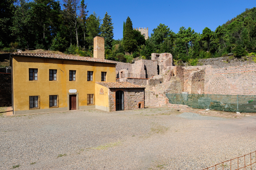
{"label": "dark pointed cypress just left of the distant crenellated tower", "polygon": [[130,17],[127,17],[125,30],[123,35],[123,48],[126,52],[133,52],[137,47],[137,42],[134,39],[133,23]]}

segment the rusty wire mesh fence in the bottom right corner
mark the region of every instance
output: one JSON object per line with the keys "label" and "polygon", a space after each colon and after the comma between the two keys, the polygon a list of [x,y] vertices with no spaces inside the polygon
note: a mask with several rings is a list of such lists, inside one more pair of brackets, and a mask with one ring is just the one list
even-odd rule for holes
{"label": "rusty wire mesh fence in the bottom right corner", "polygon": [[256,151],[228,161],[218,163],[203,170],[253,170],[256,169]]}

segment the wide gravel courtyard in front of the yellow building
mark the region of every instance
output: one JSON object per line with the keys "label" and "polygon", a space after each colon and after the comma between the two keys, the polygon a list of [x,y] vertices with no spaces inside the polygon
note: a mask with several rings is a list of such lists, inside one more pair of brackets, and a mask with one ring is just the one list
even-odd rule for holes
{"label": "wide gravel courtyard in front of the yellow building", "polygon": [[4,170],[200,170],[255,150],[255,116],[147,108],[0,117]]}

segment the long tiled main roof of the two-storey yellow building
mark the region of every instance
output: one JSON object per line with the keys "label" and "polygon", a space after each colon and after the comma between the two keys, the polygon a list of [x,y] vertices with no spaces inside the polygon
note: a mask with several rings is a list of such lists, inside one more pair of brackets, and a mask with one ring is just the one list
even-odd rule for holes
{"label": "long tiled main roof of the two-storey yellow building", "polygon": [[105,62],[105,63],[115,64],[115,62],[111,60],[106,60],[106,59],[97,59],[97,58],[83,57],[83,56],[70,56],[70,55],[55,54],[55,53],[11,53],[11,55],[55,58],[55,59],[70,59],[70,60],[80,60],[80,61],[90,61],[90,62]]}

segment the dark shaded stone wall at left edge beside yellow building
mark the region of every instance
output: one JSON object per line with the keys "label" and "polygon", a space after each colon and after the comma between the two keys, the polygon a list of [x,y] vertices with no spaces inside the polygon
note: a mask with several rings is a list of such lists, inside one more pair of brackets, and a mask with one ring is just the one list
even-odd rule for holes
{"label": "dark shaded stone wall at left edge beside yellow building", "polygon": [[11,74],[0,73],[0,107],[11,106]]}

